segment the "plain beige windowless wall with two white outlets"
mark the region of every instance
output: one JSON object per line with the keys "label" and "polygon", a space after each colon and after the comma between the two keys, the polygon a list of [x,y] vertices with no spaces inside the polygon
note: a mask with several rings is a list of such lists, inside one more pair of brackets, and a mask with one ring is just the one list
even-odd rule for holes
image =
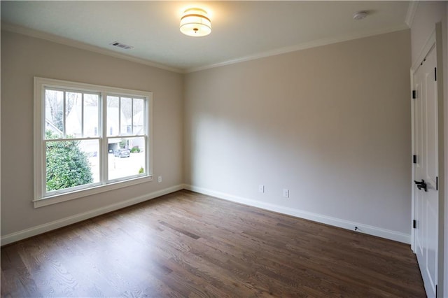
{"label": "plain beige windowless wall with two white outlets", "polygon": [[409,241],[410,66],[405,30],[188,73],[186,183]]}

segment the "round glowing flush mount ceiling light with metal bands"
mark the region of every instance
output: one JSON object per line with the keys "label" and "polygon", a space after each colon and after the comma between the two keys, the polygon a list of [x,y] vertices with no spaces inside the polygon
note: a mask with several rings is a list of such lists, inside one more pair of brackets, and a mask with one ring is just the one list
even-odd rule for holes
{"label": "round glowing flush mount ceiling light with metal bands", "polygon": [[188,36],[206,36],[211,32],[211,20],[207,11],[201,8],[188,8],[181,17],[181,32]]}

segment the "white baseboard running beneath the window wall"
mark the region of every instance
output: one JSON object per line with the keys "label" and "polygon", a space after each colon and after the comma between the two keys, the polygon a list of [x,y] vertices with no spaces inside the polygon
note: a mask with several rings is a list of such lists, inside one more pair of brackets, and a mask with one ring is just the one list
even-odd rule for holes
{"label": "white baseboard running beneath the window wall", "polygon": [[185,188],[184,186],[185,185],[183,185],[183,184],[174,185],[172,187],[168,187],[163,190],[158,190],[157,192],[151,192],[151,194],[145,194],[140,197],[134,197],[132,199],[127,199],[126,201],[120,201],[119,203],[116,203],[116,204],[111,204],[111,205],[97,208],[97,209],[87,211],[84,213],[71,215],[67,218],[62,218],[60,220],[48,222],[43,225],[38,225],[36,227],[24,229],[19,232],[7,234],[5,236],[1,236],[0,243],[2,246],[4,246],[6,244],[13,243],[15,241],[20,241],[22,239],[26,239],[31,236],[36,236],[38,234],[49,232],[53,229],[59,229],[60,227],[65,227],[65,226],[71,225],[75,222],[80,222],[82,220],[94,218],[95,216],[102,215],[104,213],[116,211],[118,209],[125,208],[127,206],[132,206],[134,204],[141,203],[142,201],[148,201],[149,199],[154,199],[156,197],[160,197],[165,194],[170,194],[170,193],[176,192],[178,190],[183,190],[183,188]]}

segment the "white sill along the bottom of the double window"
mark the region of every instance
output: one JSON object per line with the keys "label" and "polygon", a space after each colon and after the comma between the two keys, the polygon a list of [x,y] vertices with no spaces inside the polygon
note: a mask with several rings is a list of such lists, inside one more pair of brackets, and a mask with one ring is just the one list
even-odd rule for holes
{"label": "white sill along the bottom of the double window", "polygon": [[62,203],[63,201],[70,201],[72,199],[78,199],[81,197],[88,197],[93,194],[99,194],[101,192],[109,192],[110,190],[117,190],[118,188],[123,188],[127,186],[137,185],[141,183],[150,182],[153,180],[153,176],[145,176],[141,178],[135,178],[132,180],[120,181],[116,183],[111,183],[107,185],[99,185],[96,187],[89,188],[88,190],[77,190],[75,192],[69,192],[64,194],[55,194],[52,197],[45,197],[41,199],[34,199],[34,208],[39,208],[43,206],[49,206],[52,204]]}

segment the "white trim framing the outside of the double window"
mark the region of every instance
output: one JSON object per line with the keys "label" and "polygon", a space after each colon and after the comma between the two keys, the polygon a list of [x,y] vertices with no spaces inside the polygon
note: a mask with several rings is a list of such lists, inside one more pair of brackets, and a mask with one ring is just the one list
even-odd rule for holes
{"label": "white trim framing the outside of the double window", "polygon": [[[63,194],[55,194],[49,197],[43,197],[43,190],[45,186],[45,179],[43,178],[43,165],[45,160],[43,159],[43,146],[42,136],[45,129],[43,122],[43,111],[45,108],[45,87],[71,87],[77,90],[87,92],[100,92],[102,99],[107,94],[120,94],[129,96],[139,96],[148,99],[148,119],[146,119],[148,127],[148,152],[146,171],[147,176],[130,178],[123,181],[112,181],[108,184],[96,185],[84,190],[74,190],[72,192],[64,192]],[[139,183],[146,183],[153,180],[153,93],[139,90],[129,90],[117,87],[109,87],[102,85],[92,85],[85,83],[69,82],[66,80],[54,80],[49,78],[34,77],[34,208],[57,204],[62,201],[69,201],[71,199],[78,199],[80,197],[87,197],[92,194],[98,194],[101,192],[108,192],[116,190],[118,188],[127,187],[131,185],[137,185]],[[102,118],[104,115],[104,108]],[[105,138],[106,136],[102,136]],[[104,142],[103,142],[104,143]],[[103,154],[103,160],[100,163],[104,164],[107,159],[107,155]]]}

